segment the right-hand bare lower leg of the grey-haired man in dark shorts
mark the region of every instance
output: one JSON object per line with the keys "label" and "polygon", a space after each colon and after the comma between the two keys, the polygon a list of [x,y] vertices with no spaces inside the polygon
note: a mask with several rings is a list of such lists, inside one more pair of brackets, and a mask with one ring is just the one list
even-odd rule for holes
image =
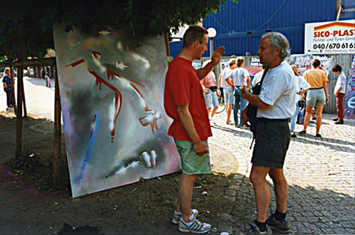
{"label": "right-hand bare lower leg of the grey-haired man in dark shorts", "polygon": [[271,168],[269,176],[274,182],[276,209],[281,213],[286,213],[286,204],[288,198],[288,184],[284,176],[283,169]]}

